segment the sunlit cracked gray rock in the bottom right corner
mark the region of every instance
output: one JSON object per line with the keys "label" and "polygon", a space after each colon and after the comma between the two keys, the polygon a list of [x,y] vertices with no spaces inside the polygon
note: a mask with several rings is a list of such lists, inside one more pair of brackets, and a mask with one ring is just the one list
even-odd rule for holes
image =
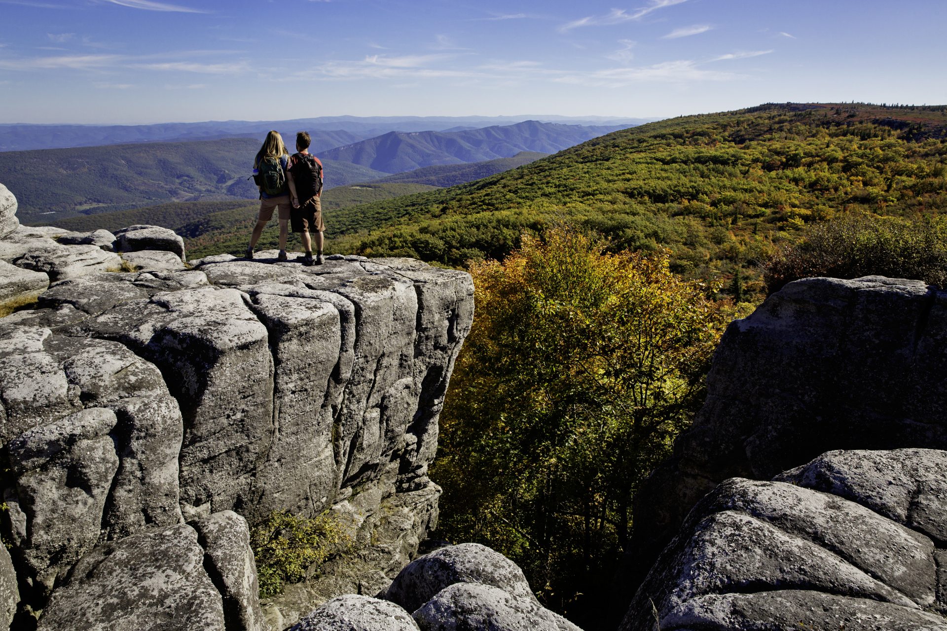
{"label": "sunlit cracked gray rock in the bottom right corner", "polygon": [[947,628],[933,508],[947,497],[945,465],[933,449],[831,451],[773,482],[723,482],[620,628]]}

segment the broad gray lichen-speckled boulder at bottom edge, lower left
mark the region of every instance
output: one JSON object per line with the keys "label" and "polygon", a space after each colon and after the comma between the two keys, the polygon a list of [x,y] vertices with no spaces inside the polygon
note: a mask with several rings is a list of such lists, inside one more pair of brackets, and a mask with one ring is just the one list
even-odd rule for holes
{"label": "broad gray lichen-speckled boulder at bottom edge, lower left", "polygon": [[187,524],[110,541],[82,557],[38,631],[224,631],[221,594]]}

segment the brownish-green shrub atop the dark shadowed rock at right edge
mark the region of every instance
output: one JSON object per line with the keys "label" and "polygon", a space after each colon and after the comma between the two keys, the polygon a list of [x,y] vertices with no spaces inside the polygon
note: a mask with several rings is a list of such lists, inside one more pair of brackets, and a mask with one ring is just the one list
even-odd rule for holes
{"label": "brownish-green shrub atop the dark shadowed rock at right edge", "polygon": [[843,215],[809,226],[776,254],[763,276],[770,293],[799,278],[914,278],[947,287],[947,220]]}

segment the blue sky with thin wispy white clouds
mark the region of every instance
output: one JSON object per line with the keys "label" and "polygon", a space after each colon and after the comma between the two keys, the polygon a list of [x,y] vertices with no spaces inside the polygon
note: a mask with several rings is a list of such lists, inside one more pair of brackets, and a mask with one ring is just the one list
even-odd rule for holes
{"label": "blue sky with thin wispy white clouds", "polygon": [[947,0],[0,0],[0,122],[947,103]]}

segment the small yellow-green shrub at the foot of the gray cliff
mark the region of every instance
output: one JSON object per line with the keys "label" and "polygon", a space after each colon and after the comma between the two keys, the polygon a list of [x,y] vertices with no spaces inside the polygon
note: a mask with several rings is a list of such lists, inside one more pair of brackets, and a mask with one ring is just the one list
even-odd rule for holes
{"label": "small yellow-green shrub at the foot of the gray cliff", "polygon": [[302,581],[313,563],[345,552],[350,545],[342,524],[328,512],[307,518],[274,511],[250,533],[260,597],[274,596],[284,584]]}

